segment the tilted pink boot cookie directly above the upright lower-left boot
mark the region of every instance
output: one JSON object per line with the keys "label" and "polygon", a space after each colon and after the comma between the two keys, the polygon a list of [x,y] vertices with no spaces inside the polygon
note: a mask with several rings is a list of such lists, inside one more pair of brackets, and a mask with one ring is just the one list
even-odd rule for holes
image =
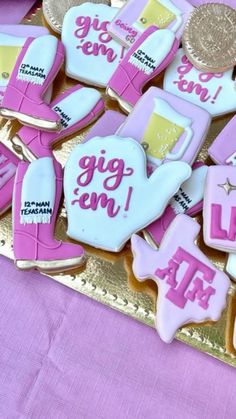
{"label": "tilted pink boot cookie directly above the upright lower-left boot", "polygon": [[13,144],[22,149],[29,161],[51,156],[52,147],[58,141],[95,121],[104,111],[104,101],[98,90],[78,84],[57,96],[50,108],[61,118],[60,131],[22,127],[12,138]]}

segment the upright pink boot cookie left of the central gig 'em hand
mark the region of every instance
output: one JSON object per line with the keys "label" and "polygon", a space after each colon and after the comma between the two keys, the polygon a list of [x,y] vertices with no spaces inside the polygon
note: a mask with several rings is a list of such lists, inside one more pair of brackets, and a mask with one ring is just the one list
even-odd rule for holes
{"label": "upright pink boot cookie left of the central gig 'em hand", "polygon": [[51,157],[18,165],[13,196],[13,251],[19,269],[56,273],[84,262],[80,245],[54,239],[62,167]]}

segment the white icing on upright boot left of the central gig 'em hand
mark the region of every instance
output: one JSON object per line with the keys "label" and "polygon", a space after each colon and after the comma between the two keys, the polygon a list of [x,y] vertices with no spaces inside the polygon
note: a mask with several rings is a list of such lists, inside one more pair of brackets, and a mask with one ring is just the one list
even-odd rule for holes
{"label": "white icing on upright boot left of the central gig 'em hand", "polygon": [[[22,184],[21,224],[50,223],[55,202],[55,172],[53,159],[42,157],[30,163]],[[45,209],[45,214],[27,212]]]}

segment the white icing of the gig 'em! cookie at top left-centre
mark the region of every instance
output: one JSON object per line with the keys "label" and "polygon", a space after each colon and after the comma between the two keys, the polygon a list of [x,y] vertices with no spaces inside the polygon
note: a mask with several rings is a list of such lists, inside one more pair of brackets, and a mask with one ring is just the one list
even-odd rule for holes
{"label": "white icing of the gig 'em! cookie at top left-centre", "polygon": [[[72,7],[66,13],[62,27],[62,42],[66,49],[65,71],[68,76],[88,84],[106,87],[123,55],[124,48],[114,39],[109,42],[101,42],[98,37],[101,36],[102,31],[94,30],[91,24],[87,36],[82,39],[76,37],[75,33],[79,29],[76,18],[89,16],[91,21],[97,18],[101,24],[101,22],[110,22],[116,13],[117,9],[114,7],[92,3]],[[108,62],[107,56],[100,52],[96,56],[92,53],[85,55],[81,49],[85,42],[90,42],[93,46],[99,44],[103,48],[112,49],[114,60]],[[90,50],[93,48],[92,45],[90,45]]]}

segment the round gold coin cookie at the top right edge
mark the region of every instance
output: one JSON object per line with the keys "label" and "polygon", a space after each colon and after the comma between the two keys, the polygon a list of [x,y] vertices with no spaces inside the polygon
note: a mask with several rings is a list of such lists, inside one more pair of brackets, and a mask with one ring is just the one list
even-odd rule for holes
{"label": "round gold coin cookie at the top right edge", "polygon": [[190,15],[183,37],[188,59],[199,70],[212,73],[236,65],[236,9],[207,3]]}

